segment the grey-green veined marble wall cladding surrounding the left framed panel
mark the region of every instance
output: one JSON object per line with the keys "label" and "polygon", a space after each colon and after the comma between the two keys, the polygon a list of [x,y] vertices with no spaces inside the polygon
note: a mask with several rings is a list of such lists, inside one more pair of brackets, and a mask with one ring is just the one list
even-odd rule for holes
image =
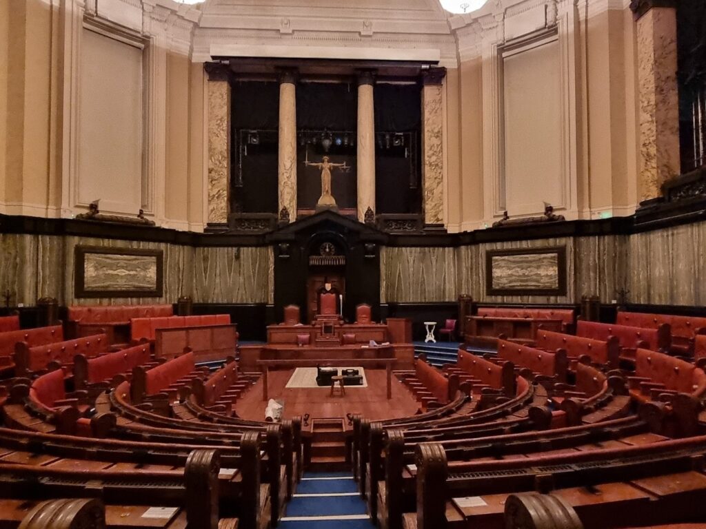
{"label": "grey-green veined marble wall cladding surrounding the left framed panel", "polygon": [[[74,247],[150,248],[164,252],[162,298],[90,298],[74,295]],[[185,245],[102,238],[0,234],[0,296],[34,305],[51,296],[61,305],[175,303],[191,296],[196,303],[268,303],[272,296],[272,250],[193,248]]]}

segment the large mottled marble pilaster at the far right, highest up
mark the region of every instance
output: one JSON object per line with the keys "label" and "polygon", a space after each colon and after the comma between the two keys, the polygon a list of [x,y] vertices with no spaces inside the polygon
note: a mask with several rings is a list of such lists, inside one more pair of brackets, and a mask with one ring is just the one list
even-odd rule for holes
{"label": "large mottled marble pilaster at the far right, highest up", "polygon": [[659,197],[680,174],[679,98],[676,80],[676,2],[633,0],[638,35],[640,91],[640,200]]}

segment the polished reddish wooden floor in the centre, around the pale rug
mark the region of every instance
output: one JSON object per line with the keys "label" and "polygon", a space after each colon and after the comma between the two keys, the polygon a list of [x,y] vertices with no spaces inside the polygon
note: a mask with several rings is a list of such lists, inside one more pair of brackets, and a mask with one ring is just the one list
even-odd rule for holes
{"label": "polished reddish wooden floor in the centre, around the pale rug", "polygon": [[[345,396],[330,396],[330,387],[285,388],[294,370],[270,371],[270,399],[285,401],[283,418],[309,413],[311,418],[345,417],[360,413],[369,420],[393,419],[414,415],[419,403],[393,376],[393,398],[385,398],[385,370],[365,370],[368,387],[347,387]],[[241,418],[264,420],[262,378],[239,399],[235,411]]]}

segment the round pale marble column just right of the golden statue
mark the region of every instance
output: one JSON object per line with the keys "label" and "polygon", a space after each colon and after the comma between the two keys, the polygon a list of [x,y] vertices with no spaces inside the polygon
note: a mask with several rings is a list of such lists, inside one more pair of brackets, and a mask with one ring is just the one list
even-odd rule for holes
{"label": "round pale marble column just right of the golden statue", "polygon": [[371,71],[358,75],[358,220],[369,221],[375,214],[375,102]]}

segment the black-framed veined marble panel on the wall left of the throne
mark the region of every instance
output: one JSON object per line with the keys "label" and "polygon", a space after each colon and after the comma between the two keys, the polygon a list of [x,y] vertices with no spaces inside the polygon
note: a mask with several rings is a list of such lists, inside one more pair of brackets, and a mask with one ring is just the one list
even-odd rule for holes
{"label": "black-framed veined marble panel on the wall left of the throne", "polygon": [[162,250],[76,246],[76,298],[161,298]]}

